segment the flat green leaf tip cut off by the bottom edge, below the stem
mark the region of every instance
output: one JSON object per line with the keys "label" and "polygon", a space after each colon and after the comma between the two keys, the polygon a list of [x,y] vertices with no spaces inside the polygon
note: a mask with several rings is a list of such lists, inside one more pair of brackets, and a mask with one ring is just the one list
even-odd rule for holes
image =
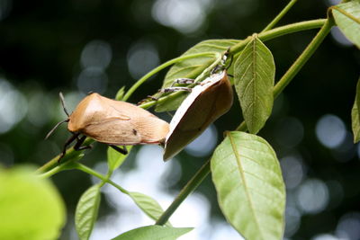
{"label": "flat green leaf tip cut off by the bottom edge, below the stem", "polygon": [[165,227],[165,226],[147,226],[139,227],[123,233],[112,240],[175,240],[179,236],[193,230],[192,227]]}

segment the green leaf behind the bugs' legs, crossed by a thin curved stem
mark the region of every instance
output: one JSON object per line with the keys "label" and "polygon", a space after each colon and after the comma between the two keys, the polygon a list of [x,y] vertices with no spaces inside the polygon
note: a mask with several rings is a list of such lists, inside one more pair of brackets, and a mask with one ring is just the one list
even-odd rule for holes
{"label": "green leaf behind the bugs' legs, crossed by a thin curved stem", "polygon": [[[217,60],[217,55],[226,51],[229,47],[238,43],[239,40],[204,40],[193,48],[184,52],[182,57],[198,53],[213,53],[213,56],[202,56],[198,58],[188,58],[184,61],[176,63],[167,72],[162,88],[169,87],[177,78],[196,78],[199,76],[206,67]],[[164,102],[159,102],[155,111],[174,111],[181,102],[184,101],[187,93],[182,93],[175,97],[175,99],[168,99]]]}

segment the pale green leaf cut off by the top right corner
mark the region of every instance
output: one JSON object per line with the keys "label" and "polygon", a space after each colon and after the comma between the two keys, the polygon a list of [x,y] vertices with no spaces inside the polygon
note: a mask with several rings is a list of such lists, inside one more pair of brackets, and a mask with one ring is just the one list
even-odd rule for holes
{"label": "pale green leaf cut off by the top right corner", "polygon": [[360,49],[360,1],[333,6],[332,13],[340,31]]}

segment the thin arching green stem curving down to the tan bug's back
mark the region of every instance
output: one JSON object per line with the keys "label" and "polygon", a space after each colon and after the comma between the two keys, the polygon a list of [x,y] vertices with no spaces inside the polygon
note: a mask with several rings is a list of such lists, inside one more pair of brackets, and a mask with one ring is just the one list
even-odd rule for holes
{"label": "thin arching green stem curving down to the tan bug's back", "polygon": [[189,59],[189,58],[199,58],[199,57],[205,57],[205,56],[213,56],[214,53],[212,52],[202,52],[202,53],[196,53],[196,54],[192,54],[192,55],[186,55],[186,56],[181,56],[179,58],[174,58],[171,59],[169,61],[167,61],[166,63],[160,65],[159,67],[154,68],[153,70],[151,70],[150,72],[148,72],[148,74],[146,74],[145,76],[141,77],[139,79],[138,82],[136,82],[135,84],[133,84],[129,91],[124,95],[124,97],[122,98],[122,101],[127,101],[131,94],[135,92],[136,89],[138,89],[138,87],[143,84],[146,80],[148,80],[149,77],[157,74],[157,72],[161,71],[162,69],[169,67],[179,61],[183,61],[185,59]]}

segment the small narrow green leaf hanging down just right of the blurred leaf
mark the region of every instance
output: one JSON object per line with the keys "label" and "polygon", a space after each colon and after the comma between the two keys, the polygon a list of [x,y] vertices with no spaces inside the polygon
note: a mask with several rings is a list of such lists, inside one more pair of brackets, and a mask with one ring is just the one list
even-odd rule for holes
{"label": "small narrow green leaf hanging down just right of the blurred leaf", "polygon": [[76,206],[76,232],[81,240],[89,239],[97,218],[101,200],[100,186],[92,186],[81,195]]}

